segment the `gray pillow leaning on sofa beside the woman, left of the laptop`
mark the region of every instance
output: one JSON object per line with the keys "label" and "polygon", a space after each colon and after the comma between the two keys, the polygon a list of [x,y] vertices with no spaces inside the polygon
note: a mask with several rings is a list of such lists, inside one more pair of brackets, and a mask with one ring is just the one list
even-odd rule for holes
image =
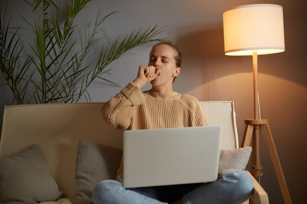
{"label": "gray pillow leaning on sofa beside the woman, left of the laptop", "polygon": [[77,198],[74,204],[93,204],[92,191],[102,180],[115,180],[123,150],[102,144],[79,141],[76,181]]}

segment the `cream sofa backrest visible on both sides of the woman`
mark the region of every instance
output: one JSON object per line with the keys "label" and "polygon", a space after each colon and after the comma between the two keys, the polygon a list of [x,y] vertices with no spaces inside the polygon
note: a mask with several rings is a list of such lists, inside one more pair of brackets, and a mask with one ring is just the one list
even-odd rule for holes
{"label": "cream sofa backrest visible on both sides of the woman", "polygon": [[[39,144],[60,190],[76,198],[75,165],[79,140],[122,148],[122,131],[101,116],[103,103],[6,106],[0,157],[12,156]],[[222,125],[221,149],[238,148],[232,101],[201,102],[209,125]]]}

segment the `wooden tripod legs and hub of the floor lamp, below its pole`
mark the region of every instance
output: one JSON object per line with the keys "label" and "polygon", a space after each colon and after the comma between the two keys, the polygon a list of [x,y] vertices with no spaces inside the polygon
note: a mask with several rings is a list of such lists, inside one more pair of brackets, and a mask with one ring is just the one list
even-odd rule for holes
{"label": "wooden tripod legs and hub of the floor lamp, below its pole", "polygon": [[261,131],[261,136],[264,138],[273,166],[279,182],[281,193],[285,204],[292,204],[289,190],[283,175],[281,168],[281,162],[278,157],[276,146],[273,140],[273,136],[270,130],[268,119],[245,119],[245,131],[242,140],[242,147],[250,146],[251,139],[253,137],[253,152],[252,152],[252,175],[254,177],[262,176],[261,172],[262,166],[260,165],[260,156],[259,156],[259,136]]}

